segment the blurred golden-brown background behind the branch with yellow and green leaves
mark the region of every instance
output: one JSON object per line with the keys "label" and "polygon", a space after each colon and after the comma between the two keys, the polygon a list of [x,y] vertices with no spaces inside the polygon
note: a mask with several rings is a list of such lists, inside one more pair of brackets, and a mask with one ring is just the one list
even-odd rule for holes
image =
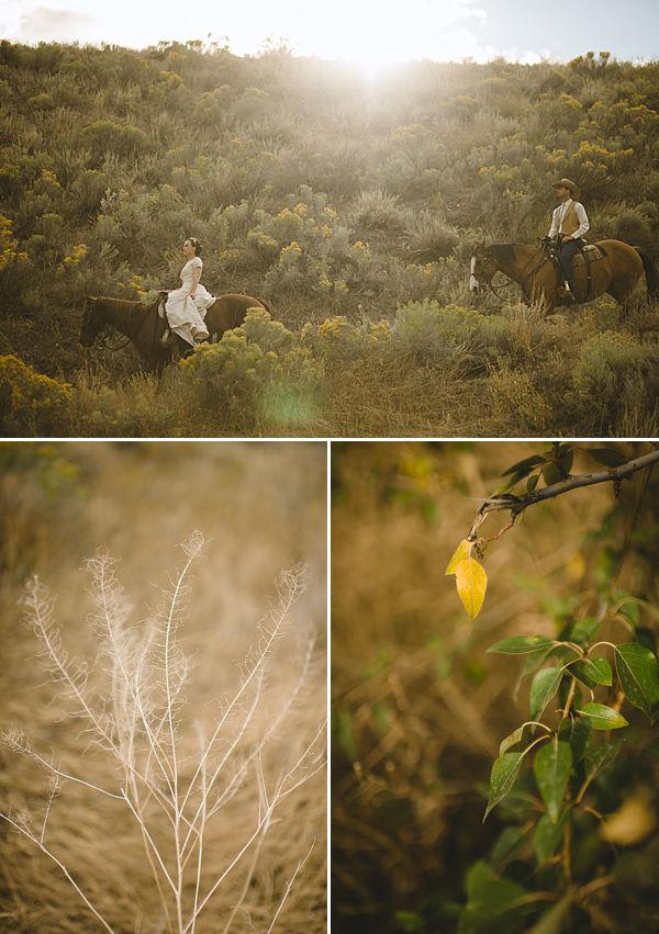
{"label": "blurred golden-brown background behind the branch with yellow and green leaves", "polygon": [[[503,471],[546,447],[333,445],[333,934],[457,930],[465,873],[502,830],[496,811],[481,823],[492,762],[528,719],[528,683],[514,696],[518,660],[487,648],[513,634],[555,638],[593,614],[601,586],[657,604],[659,477],[637,515],[637,474],[617,502],[612,484],[601,484],[529,508],[488,545],[484,606],[469,619],[455,577],[445,576],[481,505],[469,497],[491,496]],[[617,447],[629,458],[648,450]],[[578,451],[572,472],[594,469]],[[506,518],[489,516],[480,534]],[[647,543],[639,537],[625,551],[633,527]],[[656,631],[656,619],[646,622]],[[601,638],[628,633],[614,621]],[[637,713],[625,716],[636,723]],[[641,728],[644,742],[657,736],[647,720]],[[420,913],[433,919],[427,927]]]}

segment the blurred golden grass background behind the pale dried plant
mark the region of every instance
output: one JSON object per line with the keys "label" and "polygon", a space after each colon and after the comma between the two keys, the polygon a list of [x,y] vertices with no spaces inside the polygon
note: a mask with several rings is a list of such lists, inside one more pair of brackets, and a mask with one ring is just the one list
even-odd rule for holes
{"label": "blurred golden grass background behind the pale dried plant", "polygon": [[[278,738],[269,766],[279,772],[304,749],[326,707],[326,446],[324,442],[249,441],[66,441],[0,445],[0,724],[24,728],[35,750],[55,756],[64,769],[82,768],[113,780],[108,759],[86,750],[79,724],[62,719],[53,686],[34,657],[34,634],[21,624],[18,600],[27,576],[38,574],[53,595],[63,641],[70,655],[93,662],[86,616],[93,609],[83,559],[107,548],[120,559],[118,577],[130,596],[132,621],[161,601],[161,588],[182,553],[177,545],[194,529],[212,537],[208,560],[196,567],[183,649],[196,655],[188,688],[191,708],[212,720],[210,701],[238,685],[236,660],[256,640],[256,623],[275,593],[273,581],[298,562],[309,565],[311,584],[294,608],[269,685],[277,706],[294,676],[295,629],[315,630],[314,674]],[[291,641],[291,639],[293,641]],[[119,776],[115,784],[119,785]],[[47,775],[24,756],[0,747],[2,810],[25,802],[41,820]],[[48,819],[48,835],[82,888],[118,932],[163,930],[157,894],[136,828],[116,808],[79,786],[65,786]],[[258,809],[249,783],[239,807],[223,811],[204,843],[211,870],[223,868]],[[315,776],[281,806],[279,823],[266,837],[232,931],[267,930],[286,884],[312,841],[312,855],[298,876],[280,916],[280,930],[315,934],[326,930],[326,780]],[[96,932],[62,871],[27,841],[0,823],[0,927],[19,934]],[[198,931],[224,930],[241,890],[227,884],[202,913]],[[249,925],[254,924],[255,927]]]}

